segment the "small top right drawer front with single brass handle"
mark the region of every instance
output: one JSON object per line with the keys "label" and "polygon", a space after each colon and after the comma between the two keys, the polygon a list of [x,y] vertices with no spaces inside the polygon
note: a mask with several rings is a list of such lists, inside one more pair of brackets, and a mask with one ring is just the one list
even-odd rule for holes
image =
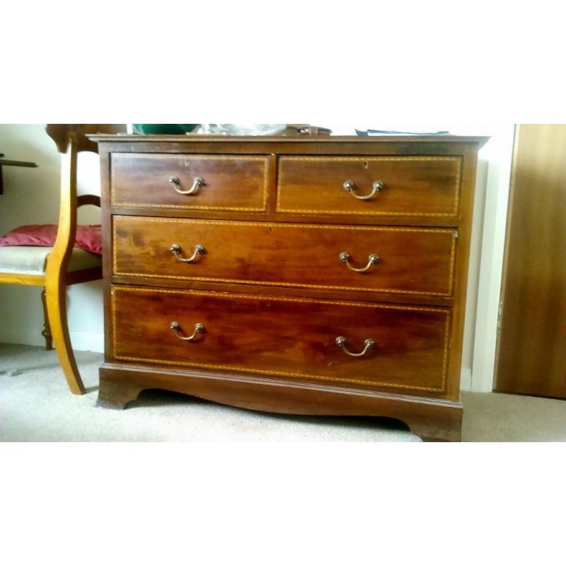
{"label": "small top right drawer front with single brass handle", "polygon": [[[277,212],[458,216],[461,157],[281,157]],[[383,187],[369,200],[373,184]]]}

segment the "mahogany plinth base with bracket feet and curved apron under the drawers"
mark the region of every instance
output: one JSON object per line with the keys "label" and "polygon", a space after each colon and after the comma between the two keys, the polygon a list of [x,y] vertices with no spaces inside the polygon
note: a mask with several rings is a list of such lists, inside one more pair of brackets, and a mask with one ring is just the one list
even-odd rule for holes
{"label": "mahogany plinth base with bracket feet and curved apron under the drawers", "polygon": [[243,409],[288,415],[390,417],[427,441],[460,441],[463,408],[452,400],[236,374],[105,363],[98,407],[124,409],[144,389],[165,389]]}

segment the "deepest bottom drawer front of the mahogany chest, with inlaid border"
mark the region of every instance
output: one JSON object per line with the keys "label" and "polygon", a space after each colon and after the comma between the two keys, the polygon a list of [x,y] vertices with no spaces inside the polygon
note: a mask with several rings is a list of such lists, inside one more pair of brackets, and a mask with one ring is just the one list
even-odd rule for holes
{"label": "deepest bottom drawer front of the mahogany chest, with inlaid border", "polygon": [[[143,313],[143,316],[140,316]],[[112,288],[115,359],[444,392],[449,308]],[[192,341],[195,325],[204,325]],[[354,353],[337,344],[345,337]]]}

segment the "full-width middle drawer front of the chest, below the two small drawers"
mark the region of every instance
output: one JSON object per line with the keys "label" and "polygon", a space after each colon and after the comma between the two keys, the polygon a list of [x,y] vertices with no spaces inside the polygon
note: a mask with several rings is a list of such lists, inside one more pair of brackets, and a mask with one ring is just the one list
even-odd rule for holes
{"label": "full-width middle drawer front of the chest, below the two small drawers", "polygon": [[[114,217],[115,275],[451,296],[452,229]],[[204,253],[193,262],[195,246]],[[350,254],[348,262],[341,253]],[[379,260],[370,264],[370,256]],[[364,269],[365,272],[351,270]]]}

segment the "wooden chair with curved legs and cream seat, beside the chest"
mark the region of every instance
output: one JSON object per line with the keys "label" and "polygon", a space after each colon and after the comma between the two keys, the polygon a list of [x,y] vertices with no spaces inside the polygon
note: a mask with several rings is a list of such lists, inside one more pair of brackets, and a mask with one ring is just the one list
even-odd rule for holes
{"label": "wooden chair with curved legs and cream seat, beside the chest", "polygon": [[47,134],[57,144],[61,158],[61,201],[57,238],[52,248],[36,246],[0,247],[0,283],[37,285],[43,287],[42,303],[45,326],[42,335],[46,348],[52,341],[72,393],[85,392],[76,366],[69,328],[67,327],[67,285],[96,281],[102,278],[100,257],[74,248],[78,207],[93,204],[100,207],[100,197],[76,194],[77,154],[80,151],[98,153],[97,144],[89,133],[125,132],[117,124],[48,124]]}

